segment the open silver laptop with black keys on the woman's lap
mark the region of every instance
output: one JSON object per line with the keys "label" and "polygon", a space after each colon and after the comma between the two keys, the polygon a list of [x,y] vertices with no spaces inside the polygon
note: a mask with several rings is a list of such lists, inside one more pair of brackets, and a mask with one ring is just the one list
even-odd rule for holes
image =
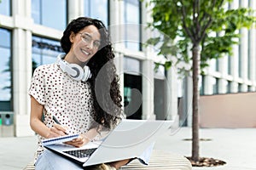
{"label": "open silver laptop with black keys on the woman's lap", "polygon": [[104,162],[140,158],[161,133],[172,127],[173,121],[124,119],[100,141],[76,148],[68,144],[49,144],[44,147],[79,163],[83,167]]}

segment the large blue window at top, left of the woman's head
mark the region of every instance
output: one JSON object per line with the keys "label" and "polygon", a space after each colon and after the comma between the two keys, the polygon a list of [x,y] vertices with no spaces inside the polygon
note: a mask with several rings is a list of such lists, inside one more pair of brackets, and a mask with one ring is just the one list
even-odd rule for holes
{"label": "large blue window at top, left of the woman's head", "polygon": [[32,18],[36,24],[64,30],[67,26],[67,1],[32,0]]}

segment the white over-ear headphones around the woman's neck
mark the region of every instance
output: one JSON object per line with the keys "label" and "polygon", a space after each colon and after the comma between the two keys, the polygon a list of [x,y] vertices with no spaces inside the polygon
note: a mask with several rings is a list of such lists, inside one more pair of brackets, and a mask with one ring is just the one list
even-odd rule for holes
{"label": "white over-ear headphones around the woman's neck", "polygon": [[61,71],[67,72],[67,75],[73,80],[86,82],[91,77],[89,66],[85,65],[84,69],[77,64],[69,64],[64,60],[65,54],[59,54],[56,64],[60,66]]}

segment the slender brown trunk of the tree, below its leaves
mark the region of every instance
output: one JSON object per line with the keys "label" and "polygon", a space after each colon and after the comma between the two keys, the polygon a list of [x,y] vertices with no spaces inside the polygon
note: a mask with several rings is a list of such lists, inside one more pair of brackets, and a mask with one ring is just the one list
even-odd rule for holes
{"label": "slender brown trunk of the tree, below its leaves", "polygon": [[193,58],[193,113],[192,113],[192,160],[199,160],[199,71],[200,71],[200,46],[194,45],[192,48]]}

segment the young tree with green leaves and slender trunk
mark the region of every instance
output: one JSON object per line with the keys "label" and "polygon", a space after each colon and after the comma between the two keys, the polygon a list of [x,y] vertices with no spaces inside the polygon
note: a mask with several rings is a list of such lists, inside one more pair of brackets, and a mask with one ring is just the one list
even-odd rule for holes
{"label": "young tree with green leaves and slender trunk", "polygon": [[[232,54],[232,45],[239,41],[239,29],[250,28],[255,17],[249,8],[228,8],[232,0],[151,0],[153,22],[148,26],[163,33],[148,39],[166,57],[166,67],[192,60],[192,156],[199,161],[199,75],[210,59]],[[192,48],[191,48],[192,47]],[[189,56],[189,50],[192,56]],[[176,56],[175,62],[170,56]],[[181,68],[183,70],[183,68]],[[190,70],[190,71],[191,71]]]}

